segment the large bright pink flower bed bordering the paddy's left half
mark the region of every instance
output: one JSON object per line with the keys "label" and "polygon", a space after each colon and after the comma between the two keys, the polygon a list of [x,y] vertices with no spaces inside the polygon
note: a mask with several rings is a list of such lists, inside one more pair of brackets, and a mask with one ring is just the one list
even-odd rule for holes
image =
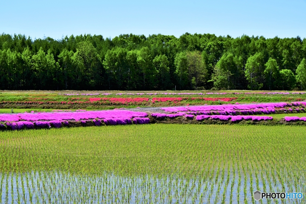
{"label": "large bright pink flower bed bordering the paddy's left half", "polygon": [[[86,121],[92,121],[96,126],[101,124],[101,120],[107,125],[125,125],[132,124],[148,124],[150,122],[148,115],[144,112],[135,112],[128,110],[102,110],[102,111],[86,111],[79,110],[76,112],[49,112],[49,113],[18,113],[18,114],[0,114],[0,121],[13,130],[27,128],[60,128],[62,124],[69,125],[68,121],[81,121],[86,124]],[[5,127],[0,123],[0,128]]]}

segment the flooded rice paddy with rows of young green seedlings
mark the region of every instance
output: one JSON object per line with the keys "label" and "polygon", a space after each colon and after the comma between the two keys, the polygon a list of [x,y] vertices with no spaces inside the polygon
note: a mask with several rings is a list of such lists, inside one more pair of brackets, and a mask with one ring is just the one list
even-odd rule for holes
{"label": "flooded rice paddy with rows of young green seedlings", "polygon": [[305,135],[303,126],[178,124],[1,132],[0,198],[259,203],[256,190],[306,192]]}

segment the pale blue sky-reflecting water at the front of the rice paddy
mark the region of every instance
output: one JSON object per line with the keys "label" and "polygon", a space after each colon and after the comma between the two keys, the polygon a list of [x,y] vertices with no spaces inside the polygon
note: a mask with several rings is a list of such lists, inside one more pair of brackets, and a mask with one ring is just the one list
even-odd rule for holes
{"label": "pale blue sky-reflecting water at the front of the rice paddy", "polygon": [[[259,203],[252,198],[253,192],[263,189],[259,177],[252,175],[251,189],[249,174],[246,183],[241,172],[238,192],[238,174],[230,171],[204,177],[184,178],[180,175],[164,176],[119,176],[104,172],[101,175],[76,175],[63,172],[0,173],[1,203]],[[211,179],[210,179],[211,178]],[[268,192],[282,192],[279,182],[272,182]],[[246,191],[244,186],[246,184]],[[233,186],[233,187],[231,187]],[[305,184],[297,186],[303,191]],[[251,192],[252,190],[252,192]],[[285,185],[287,192],[289,187]],[[238,196],[239,195],[239,196]],[[263,199],[262,203],[305,203],[305,198],[295,200]]]}

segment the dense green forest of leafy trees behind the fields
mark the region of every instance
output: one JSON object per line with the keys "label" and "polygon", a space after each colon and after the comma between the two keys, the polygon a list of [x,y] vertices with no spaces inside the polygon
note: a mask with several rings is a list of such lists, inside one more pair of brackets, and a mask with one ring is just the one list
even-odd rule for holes
{"label": "dense green forest of leafy trees behind the fields", "polygon": [[306,39],[0,36],[1,90],[305,90]]}

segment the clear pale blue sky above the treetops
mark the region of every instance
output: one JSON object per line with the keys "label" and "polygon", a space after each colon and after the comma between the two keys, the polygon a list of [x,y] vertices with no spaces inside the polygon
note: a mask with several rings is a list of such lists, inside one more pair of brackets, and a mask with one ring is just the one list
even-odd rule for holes
{"label": "clear pale blue sky above the treetops", "polygon": [[0,32],[32,39],[62,35],[185,32],[306,38],[306,0],[17,1],[1,2]]}

